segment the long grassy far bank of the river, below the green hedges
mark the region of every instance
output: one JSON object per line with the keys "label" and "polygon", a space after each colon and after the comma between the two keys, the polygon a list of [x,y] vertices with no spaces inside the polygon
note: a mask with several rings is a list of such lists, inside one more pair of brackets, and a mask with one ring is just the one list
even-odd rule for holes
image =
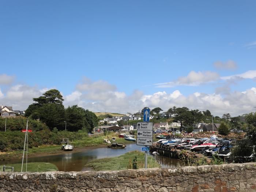
{"label": "long grassy far bank of the river, below the green hedges", "polygon": [[[23,135],[22,135],[23,137]],[[109,132],[108,137],[111,138],[116,138],[117,143],[124,143],[124,144],[131,144],[135,143],[132,141],[127,141],[124,138],[118,138],[118,134],[114,132]],[[67,135],[68,138],[68,135]],[[98,136],[98,137],[89,137],[89,136],[84,136],[81,139],[75,139],[71,143],[75,148],[84,148],[84,147],[93,147],[93,146],[102,146],[105,145],[107,146],[108,144],[104,142],[104,139],[107,138],[105,135],[103,136]],[[24,141],[23,141],[24,142]],[[22,143],[23,143],[22,142]],[[29,150],[28,150],[28,155],[31,157],[33,155],[39,155],[39,154],[57,154],[57,153],[63,153],[61,150],[61,139],[59,138],[58,140],[58,145],[40,145],[38,147],[31,147],[29,144]],[[24,145],[24,143],[23,143]],[[17,159],[21,158],[23,154],[23,150],[14,150],[14,151],[6,151],[4,153],[0,153],[0,161],[2,160],[7,160],[7,159]]]}

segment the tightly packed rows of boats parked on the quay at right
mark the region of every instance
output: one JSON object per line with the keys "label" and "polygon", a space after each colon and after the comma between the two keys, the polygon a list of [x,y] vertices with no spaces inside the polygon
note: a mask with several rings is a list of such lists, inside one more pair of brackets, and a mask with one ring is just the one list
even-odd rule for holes
{"label": "tightly packed rows of boats parked on the quay at right", "polygon": [[230,157],[230,151],[233,147],[230,140],[218,139],[216,137],[160,139],[157,144],[170,148],[191,150],[208,156],[216,154],[223,158]]}

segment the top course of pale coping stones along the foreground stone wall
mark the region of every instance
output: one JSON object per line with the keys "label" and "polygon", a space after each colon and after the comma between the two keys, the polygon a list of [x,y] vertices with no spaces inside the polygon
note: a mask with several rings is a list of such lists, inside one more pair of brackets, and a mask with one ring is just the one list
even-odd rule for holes
{"label": "top course of pale coping stones along the foreground stone wall", "polygon": [[84,172],[0,172],[0,180],[29,180],[44,179],[54,180],[62,179],[91,179],[101,178],[104,180],[116,180],[117,178],[136,178],[136,177],[171,177],[189,174],[205,174],[217,172],[240,172],[245,170],[255,170],[256,162],[252,163],[231,163],[223,165],[202,165],[202,166],[185,166],[176,168],[150,168],[150,169],[128,169],[119,171],[84,171]]}

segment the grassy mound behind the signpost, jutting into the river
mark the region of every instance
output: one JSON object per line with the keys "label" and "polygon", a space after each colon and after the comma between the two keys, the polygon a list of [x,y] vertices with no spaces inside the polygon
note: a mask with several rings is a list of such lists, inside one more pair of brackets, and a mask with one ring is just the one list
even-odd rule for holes
{"label": "grassy mound behind the signpost, jutting into the river", "polygon": [[[123,170],[132,169],[133,159],[137,157],[137,169],[144,168],[144,153],[140,151],[130,151],[118,157],[95,159],[86,164],[94,170]],[[159,163],[153,158],[148,158],[148,168],[160,167]]]}

